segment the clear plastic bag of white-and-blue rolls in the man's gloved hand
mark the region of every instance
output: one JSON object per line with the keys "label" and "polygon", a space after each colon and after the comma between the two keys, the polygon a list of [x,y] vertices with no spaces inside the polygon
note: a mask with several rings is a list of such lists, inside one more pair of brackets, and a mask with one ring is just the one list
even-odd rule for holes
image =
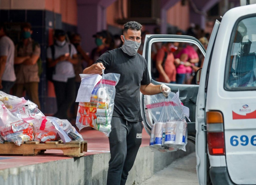
{"label": "clear plastic bag of white-and-blue rolls in the man's gloved hand", "polygon": [[154,121],[151,126],[150,148],[162,152],[176,150],[186,151],[187,123],[189,108],[182,105],[179,92],[170,92],[165,98],[163,94],[145,97],[147,109]]}

